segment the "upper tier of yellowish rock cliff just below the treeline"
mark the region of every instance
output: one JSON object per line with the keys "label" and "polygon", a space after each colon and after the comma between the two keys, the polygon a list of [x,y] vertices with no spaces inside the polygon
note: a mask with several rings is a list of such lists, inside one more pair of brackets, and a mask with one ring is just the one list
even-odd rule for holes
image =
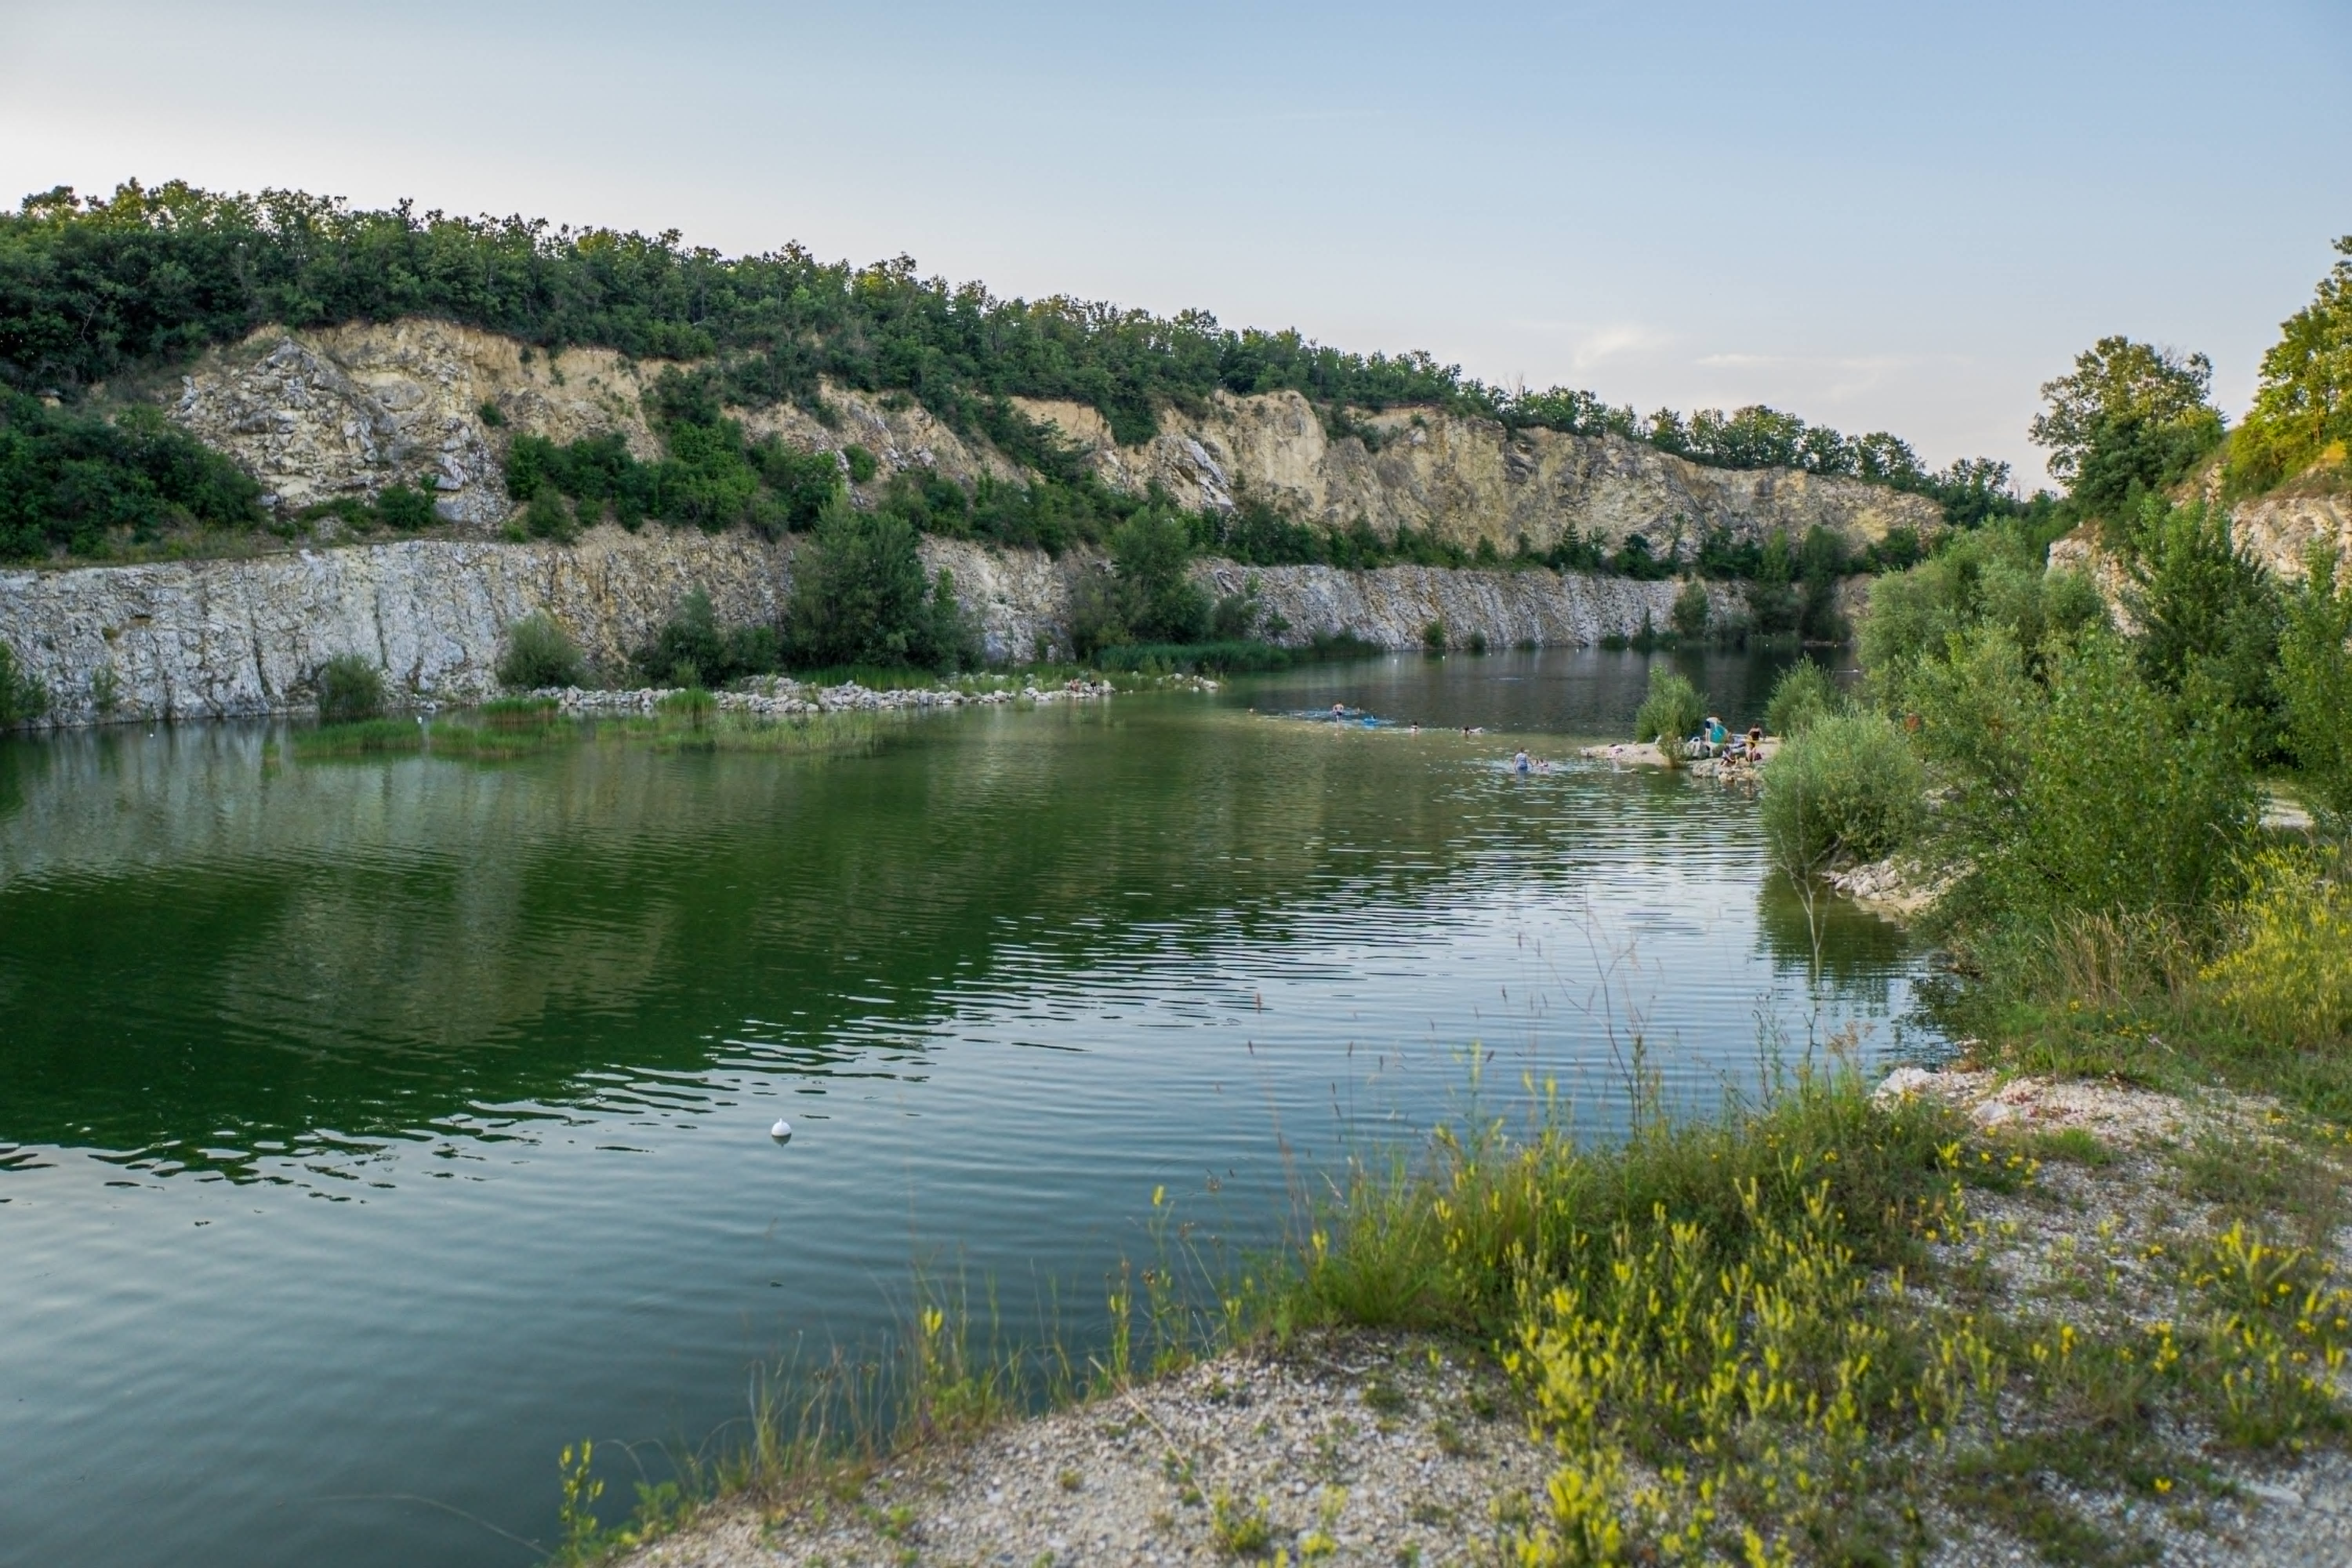
{"label": "upper tier of yellowish rock cliff just below the treeline", "polygon": [[[167,409],[254,473],[285,510],[430,475],[442,520],[487,536],[513,510],[501,480],[513,433],[560,442],[621,433],[637,456],[654,456],[640,395],[663,369],[593,348],[529,353],[447,322],[263,329],[205,355],[167,395]],[[837,411],[833,428],[788,404],[741,418],[753,435],[774,433],[807,451],[868,447],[882,468],[868,501],[901,468],[964,482],[1018,477],[993,447],[960,437],[908,397],[847,388],[826,397]],[[501,423],[482,418],[485,404]],[[1263,498],[1327,527],[1362,517],[1383,536],[1411,527],[1463,548],[1494,541],[1505,555],[1522,538],[1548,550],[1571,529],[1611,548],[1642,534],[1668,552],[1710,529],[1762,538],[1818,524],[1860,545],[1893,527],[1940,527],[1933,503],[1856,480],[1703,468],[1618,437],[1510,433],[1437,409],[1367,414],[1357,421],[1371,433],[1367,444],[1357,435],[1331,440],[1296,393],[1218,395],[1200,414],[1164,411],[1157,437],[1120,447],[1087,404],[1023,407],[1127,491],[1160,484],[1188,508]]]}

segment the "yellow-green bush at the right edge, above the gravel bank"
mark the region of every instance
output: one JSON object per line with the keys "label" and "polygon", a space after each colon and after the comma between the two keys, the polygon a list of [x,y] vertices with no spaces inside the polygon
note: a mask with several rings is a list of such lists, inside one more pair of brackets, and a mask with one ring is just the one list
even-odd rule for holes
{"label": "yellow-green bush at the right edge, above the gravel bank", "polygon": [[2352,889],[2340,858],[2310,849],[2256,856],[2234,926],[2204,980],[2249,1027],[2300,1046],[2352,1032]]}

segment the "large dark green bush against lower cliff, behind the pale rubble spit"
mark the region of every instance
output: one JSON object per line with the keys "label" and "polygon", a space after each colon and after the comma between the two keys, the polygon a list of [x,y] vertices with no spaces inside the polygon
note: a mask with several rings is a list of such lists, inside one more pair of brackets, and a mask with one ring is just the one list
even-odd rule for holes
{"label": "large dark green bush against lower cliff, behind the pale rubble spit", "polygon": [[793,663],[948,670],[971,656],[971,632],[941,571],[924,581],[915,529],[847,503],[826,510],[793,557]]}

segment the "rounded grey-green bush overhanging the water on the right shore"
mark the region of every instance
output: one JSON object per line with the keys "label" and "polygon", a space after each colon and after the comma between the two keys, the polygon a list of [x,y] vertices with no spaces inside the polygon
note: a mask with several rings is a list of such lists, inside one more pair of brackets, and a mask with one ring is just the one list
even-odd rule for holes
{"label": "rounded grey-green bush overhanging the water on the right shore", "polygon": [[1792,877],[1877,860],[1919,827],[1924,797],[1926,771],[1886,715],[1816,710],[1764,773],[1764,839]]}

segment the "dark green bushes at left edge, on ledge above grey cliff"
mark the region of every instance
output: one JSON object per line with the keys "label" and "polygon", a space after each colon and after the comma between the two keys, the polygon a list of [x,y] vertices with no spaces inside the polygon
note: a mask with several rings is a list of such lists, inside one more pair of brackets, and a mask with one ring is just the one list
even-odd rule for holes
{"label": "dark green bushes at left edge, on ledge above grey cliff", "polygon": [[101,418],[0,393],[0,557],[99,555],[118,529],[151,541],[261,522],[261,487],[158,409]]}

